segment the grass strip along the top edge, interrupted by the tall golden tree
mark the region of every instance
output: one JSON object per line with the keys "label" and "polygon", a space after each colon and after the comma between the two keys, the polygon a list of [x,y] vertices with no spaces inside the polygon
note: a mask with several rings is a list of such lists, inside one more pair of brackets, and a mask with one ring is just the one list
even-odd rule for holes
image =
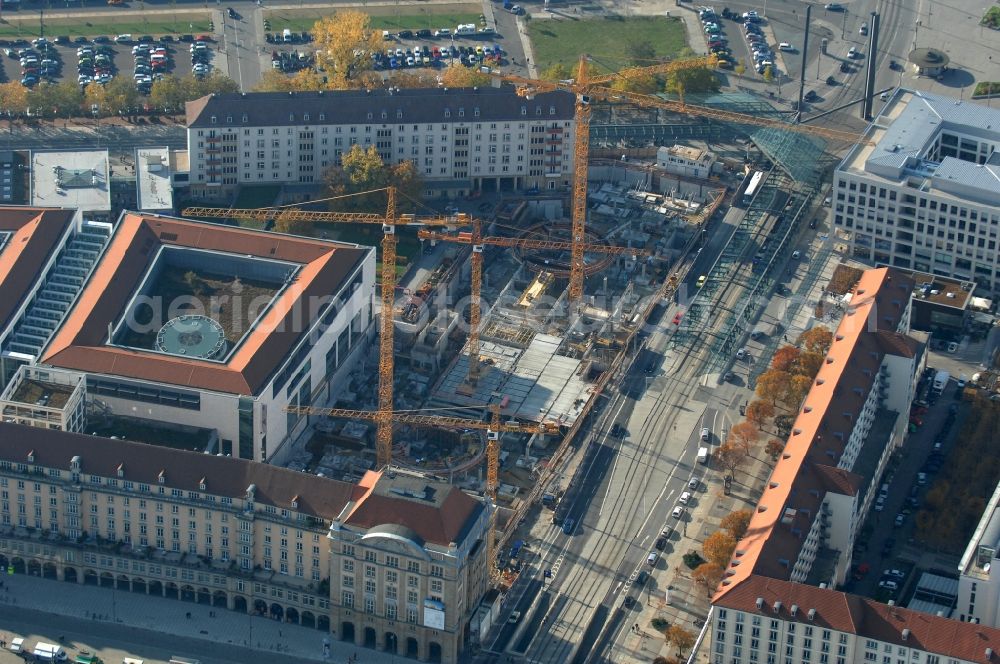
{"label": "grass strip along the top edge, interrupted by the tall golden tree", "polygon": [[[459,23],[475,23],[479,25],[479,5],[428,5],[426,7],[406,7],[399,11],[393,7],[374,8],[367,10],[371,16],[371,26],[377,30],[437,30],[438,28],[455,29]],[[414,12],[418,13],[414,13]],[[268,11],[265,17],[271,22],[271,32],[281,32],[285,28],[294,32],[312,30],[313,24],[324,16],[334,14],[334,10],[318,9],[275,9]]]}

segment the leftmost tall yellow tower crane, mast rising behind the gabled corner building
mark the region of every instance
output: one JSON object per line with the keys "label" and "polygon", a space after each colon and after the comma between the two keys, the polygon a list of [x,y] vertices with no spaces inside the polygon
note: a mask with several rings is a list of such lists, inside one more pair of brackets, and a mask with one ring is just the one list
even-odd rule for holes
{"label": "leftmost tall yellow tower crane, mast rising behind the gabled corner building", "polygon": [[[254,219],[257,221],[306,221],[382,225],[382,315],[379,322],[379,368],[378,368],[378,410],[375,411],[375,459],[378,467],[387,466],[392,461],[392,380],[393,380],[393,307],[396,293],[396,226],[445,226],[458,227],[469,223],[465,214],[453,216],[416,216],[397,214],[396,189],[386,187],[362,192],[364,194],[386,192],[385,215],[374,212],[324,212],[299,210],[291,207],[236,208],[189,207],[183,211],[186,217]],[[354,194],[359,195],[359,194]]]}

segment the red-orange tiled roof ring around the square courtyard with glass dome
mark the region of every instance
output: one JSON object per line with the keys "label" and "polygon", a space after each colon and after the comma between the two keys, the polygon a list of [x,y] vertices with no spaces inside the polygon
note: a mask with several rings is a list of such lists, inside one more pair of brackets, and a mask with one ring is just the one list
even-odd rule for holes
{"label": "red-orange tiled roof ring around the square courtyard with glass dome", "polygon": [[[160,245],[260,256],[301,265],[294,283],[225,363],[105,345]],[[371,249],[160,216],[126,214],[41,362],[230,394],[256,395],[280,367],[325,299],[336,293]]]}

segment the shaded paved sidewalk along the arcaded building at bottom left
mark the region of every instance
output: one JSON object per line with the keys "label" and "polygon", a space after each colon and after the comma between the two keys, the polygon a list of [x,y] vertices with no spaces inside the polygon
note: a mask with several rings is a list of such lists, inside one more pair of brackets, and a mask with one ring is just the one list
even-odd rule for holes
{"label": "shaded paved sidewalk along the arcaded building at bottom left", "polygon": [[[24,575],[5,576],[9,592],[0,591],[0,601],[19,608],[58,613],[69,618],[117,623],[129,627],[172,634],[215,645],[230,644],[263,652],[295,657],[302,661],[344,662],[354,653],[365,664],[393,664],[408,661],[390,653],[361,648],[337,641],[317,629],[254,617],[204,604],[153,597],[126,590],[40,579]],[[187,617],[190,614],[190,618]],[[214,614],[214,617],[212,617]],[[329,639],[330,654],[324,658],[324,639]],[[196,644],[179,642],[178,650],[196,649]],[[136,653],[141,656],[142,653]],[[198,652],[191,652],[198,656]]]}

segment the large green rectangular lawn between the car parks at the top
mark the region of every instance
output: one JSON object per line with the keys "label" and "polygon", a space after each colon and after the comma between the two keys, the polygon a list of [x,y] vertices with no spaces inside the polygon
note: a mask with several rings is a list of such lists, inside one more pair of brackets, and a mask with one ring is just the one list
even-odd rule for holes
{"label": "large green rectangular lawn between the car parks at the top", "polygon": [[649,42],[657,57],[665,58],[676,57],[687,46],[680,19],[665,16],[533,20],[528,34],[539,71],[556,63],[573,67],[586,52],[593,56],[594,70],[610,72],[629,65],[630,44]]}

